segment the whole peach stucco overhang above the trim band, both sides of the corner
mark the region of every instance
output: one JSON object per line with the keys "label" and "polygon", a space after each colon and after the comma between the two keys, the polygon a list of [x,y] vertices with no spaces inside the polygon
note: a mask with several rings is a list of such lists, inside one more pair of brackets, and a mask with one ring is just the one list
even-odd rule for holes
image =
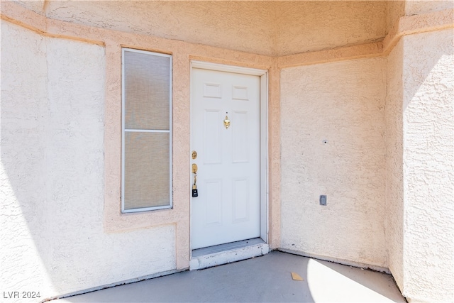
{"label": "whole peach stucco overhang above the trim band, both sides of the corner", "polygon": [[381,40],[386,1],[18,1],[49,18],[262,55]]}

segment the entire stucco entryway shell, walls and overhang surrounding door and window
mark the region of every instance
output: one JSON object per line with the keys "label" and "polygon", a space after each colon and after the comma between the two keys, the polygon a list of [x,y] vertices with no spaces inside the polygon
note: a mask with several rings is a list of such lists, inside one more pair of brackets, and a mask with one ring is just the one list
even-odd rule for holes
{"label": "entire stucco entryway shell, walls and overhang surrounding door and window", "polygon": [[[389,270],[406,297],[448,300],[453,222],[438,197],[453,184],[452,10],[451,1],[2,1],[11,289],[52,297],[189,268],[197,61],[267,72],[260,239],[270,250]],[[122,48],[172,56],[172,208],[121,213]]]}

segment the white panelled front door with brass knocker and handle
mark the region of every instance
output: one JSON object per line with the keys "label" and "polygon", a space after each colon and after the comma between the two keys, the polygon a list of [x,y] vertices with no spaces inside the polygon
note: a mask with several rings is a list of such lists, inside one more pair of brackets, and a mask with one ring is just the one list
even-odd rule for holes
{"label": "white panelled front door with brass knocker and handle", "polygon": [[191,248],[259,237],[260,77],[194,68],[191,120]]}

